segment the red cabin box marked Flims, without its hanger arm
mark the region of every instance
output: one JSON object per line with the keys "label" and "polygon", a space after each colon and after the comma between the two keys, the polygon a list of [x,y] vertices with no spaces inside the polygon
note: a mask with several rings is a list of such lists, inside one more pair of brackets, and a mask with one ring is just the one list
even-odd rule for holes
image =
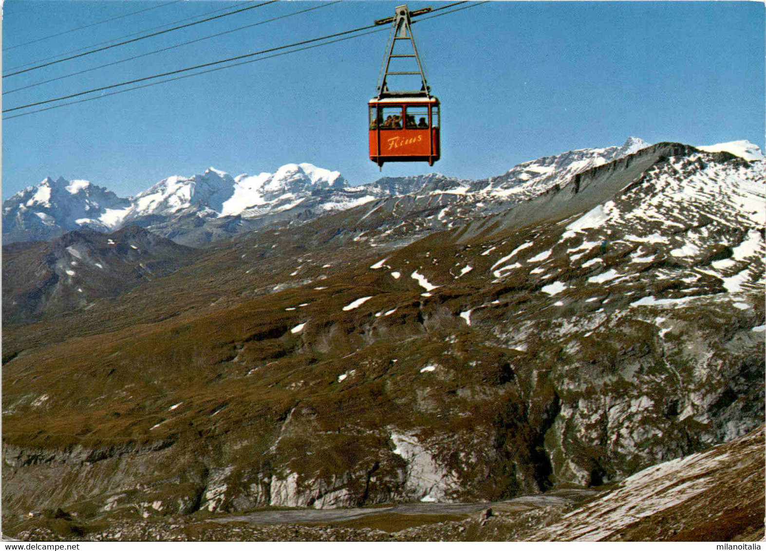
{"label": "red cabin box marked Flims, without its hanger arm", "polygon": [[439,160],[439,100],[434,96],[387,94],[370,99],[370,159],[379,167],[388,161]]}

